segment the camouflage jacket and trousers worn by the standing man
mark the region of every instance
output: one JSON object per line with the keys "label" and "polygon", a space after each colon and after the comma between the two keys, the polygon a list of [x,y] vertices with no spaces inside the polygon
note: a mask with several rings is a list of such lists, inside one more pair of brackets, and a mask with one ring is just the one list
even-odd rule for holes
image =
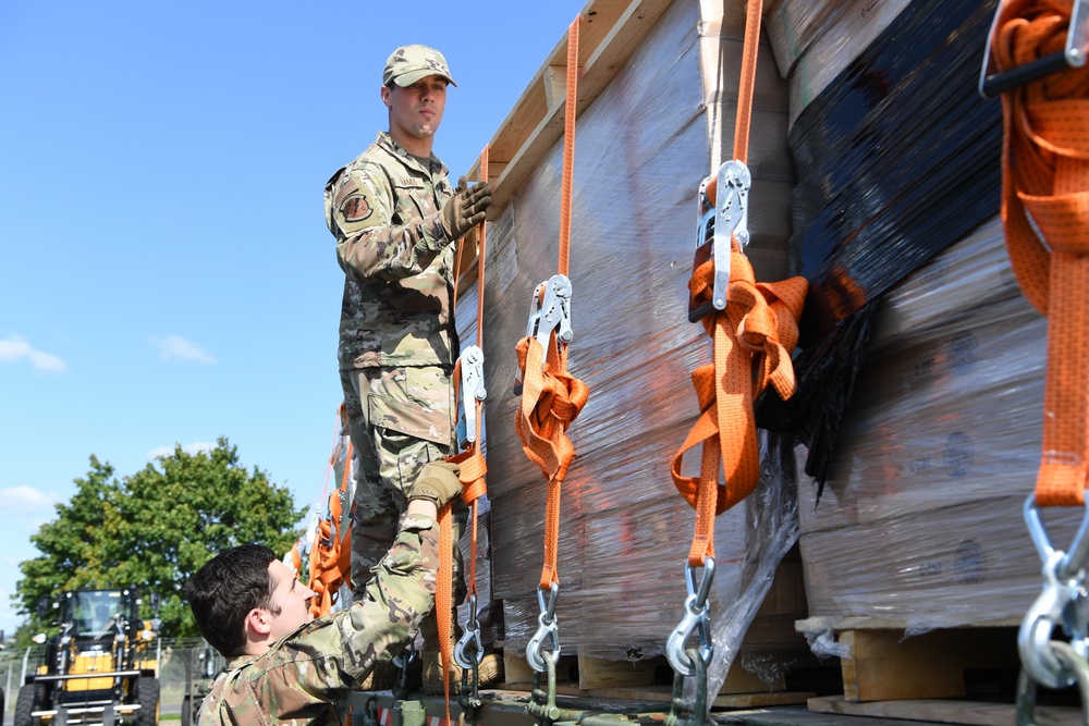
{"label": "camouflage jacket and trousers worn by the standing man", "polygon": [[[455,451],[455,245],[439,221],[453,195],[446,175],[435,156],[417,159],[382,132],[326,185],[326,223],[345,273],[338,359],[360,465],[355,596],[393,540],[405,490],[425,464]],[[465,505],[455,506],[463,521]]]}

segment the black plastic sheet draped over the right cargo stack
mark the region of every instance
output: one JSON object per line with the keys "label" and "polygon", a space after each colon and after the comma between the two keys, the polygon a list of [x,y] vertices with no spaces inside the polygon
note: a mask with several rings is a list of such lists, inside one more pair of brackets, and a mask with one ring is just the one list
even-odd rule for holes
{"label": "black plastic sheet draped over the right cargo stack", "polygon": [[798,116],[792,263],[809,280],[798,392],[758,420],[822,487],[873,304],[1000,208],[1002,108],[977,91],[994,0],[911,2]]}

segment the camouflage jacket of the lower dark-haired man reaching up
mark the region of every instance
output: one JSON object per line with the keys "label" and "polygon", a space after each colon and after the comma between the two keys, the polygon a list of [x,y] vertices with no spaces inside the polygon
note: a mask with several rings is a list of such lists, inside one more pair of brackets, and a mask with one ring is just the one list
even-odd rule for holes
{"label": "camouflage jacket of the lower dark-haired man reaching up", "polygon": [[304,625],[264,655],[230,663],[205,697],[199,726],[343,724],[347,694],[400,652],[431,610],[438,538],[431,518],[406,517],[366,596]]}

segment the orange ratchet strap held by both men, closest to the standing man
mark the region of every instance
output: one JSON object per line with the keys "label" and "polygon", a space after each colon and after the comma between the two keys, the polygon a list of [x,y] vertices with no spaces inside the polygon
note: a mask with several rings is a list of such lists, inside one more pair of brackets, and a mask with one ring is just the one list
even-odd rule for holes
{"label": "orange ratchet strap held by both men, closest to the standing man", "polygon": [[[488,151],[485,146],[480,152],[480,181],[488,181]],[[457,479],[462,482],[462,499],[469,505],[470,513],[470,541],[469,541],[469,575],[467,581],[467,592],[472,602],[476,602],[476,561],[477,561],[477,506],[476,502],[488,493],[485,482],[485,475],[488,472],[488,465],[480,451],[481,422],[484,418],[484,283],[485,283],[485,257],[486,257],[486,230],[487,222],[480,222],[477,227],[477,337],[476,345],[467,346],[462,350],[461,357],[454,365],[454,399],[463,401],[466,421],[470,427],[468,431],[468,445],[454,456],[446,458],[448,462],[458,465]],[[462,238],[464,241],[465,237]],[[457,260],[461,262],[461,244],[458,242]],[[460,269],[454,272],[454,296],[453,305],[457,305],[457,283],[461,276]],[[451,316],[454,310],[451,310]],[[464,395],[468,394],[468,395]],[[463,398],[464,395],[464,398]],[[470,399],[472,398],[472,399]],[[442,689],[445,697],[446,721],[450,721],[450,672],[455,652],[453,640],[453,549],[455,542],[453,537],[453,521],[451,519],[451,505],[446,504],[439,512],[439,575],[436,582],[435,610],[436,623],[439,631],[439,667],[442,670]],[[466,636],[469,636],[470,627],[476,626],[475,613],[470,614],[470,620],[466,628]],[[477,630],[479,632],[479,630]],[[479,636],[477,636],[479,642]],[[462,643],[460,648],[464,650]],[[479,656],[484,653],[479,652]],[[463,664],[461,664],[463,665]],[[463,665],[463,667],[467,667]]]}

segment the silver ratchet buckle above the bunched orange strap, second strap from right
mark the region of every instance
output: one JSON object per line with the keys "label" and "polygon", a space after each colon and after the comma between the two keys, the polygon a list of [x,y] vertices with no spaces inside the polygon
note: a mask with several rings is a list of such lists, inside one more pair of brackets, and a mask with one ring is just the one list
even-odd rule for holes
{"label": "silver ratchet buckle above the bunched orange strap, second strap from right", "polygon": [[[1089,2],[1089,0],[1087,0]],[[714,184],[714,200],[707,188]],[[733,159],[723,162],[718,173],[708,176],[699,185],[697,198],[698,214],[696,226],[696,256],[692,270],[714,260],[714,283],[711,302],[696,305],[688,296],[688,321],[698,322],[715,310],[726,309],[726,293],[730,290],[730,238],[745,247],[749,243],[748,193],[752,175],[744,161]]]}

